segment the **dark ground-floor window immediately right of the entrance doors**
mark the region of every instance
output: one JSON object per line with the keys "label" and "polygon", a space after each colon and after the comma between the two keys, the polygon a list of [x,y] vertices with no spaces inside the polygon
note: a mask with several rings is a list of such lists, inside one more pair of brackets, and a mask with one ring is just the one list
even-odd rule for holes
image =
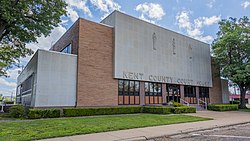
{"label": "dark ground-floor window immediately right of the entrance doors", "polygon": [[185,100],[191,104],[196,104],[196,88],[195,86],[184,86]]}

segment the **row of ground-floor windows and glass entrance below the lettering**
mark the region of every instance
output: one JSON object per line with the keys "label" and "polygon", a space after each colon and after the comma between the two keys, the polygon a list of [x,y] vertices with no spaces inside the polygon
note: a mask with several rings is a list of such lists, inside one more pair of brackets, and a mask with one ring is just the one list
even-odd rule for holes
{"label": "row of ground-floor windows and glass entrance below the lettering", "polygon": [[[145,104],[162,104],[162,84],[156,82],[145,82]],[[180,85],[167,84],[167,102],[174,100],[180,102]],[[134,80],[118,81],[118,104],[119,105],[139,105],[140,104],[140,83]],[[194,86],[184,86],[184,100],[196,104],[196,88]],[[209,102],[209,88],[199,87],[199,97]]]}

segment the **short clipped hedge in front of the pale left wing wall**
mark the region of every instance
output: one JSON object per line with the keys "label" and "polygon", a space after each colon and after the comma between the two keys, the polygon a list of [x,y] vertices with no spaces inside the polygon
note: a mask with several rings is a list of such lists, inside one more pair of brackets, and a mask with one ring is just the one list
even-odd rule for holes
{"label": "short clipped hedge in front of the pale left wing wall", "polygon": [[60,109],[30,109],[28,118],[57,118],[60,117]]}

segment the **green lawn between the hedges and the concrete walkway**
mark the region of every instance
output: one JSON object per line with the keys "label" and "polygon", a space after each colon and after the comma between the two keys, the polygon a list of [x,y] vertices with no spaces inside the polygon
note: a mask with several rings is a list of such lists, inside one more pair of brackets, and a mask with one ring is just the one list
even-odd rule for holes
{"label": "green lawn between the hedges and the concrete walkway", "polygon": [[133,114],[3,122],[0,124],[0,141],[28,141],[203,120],[209,120],[209,118],[188,115]]}

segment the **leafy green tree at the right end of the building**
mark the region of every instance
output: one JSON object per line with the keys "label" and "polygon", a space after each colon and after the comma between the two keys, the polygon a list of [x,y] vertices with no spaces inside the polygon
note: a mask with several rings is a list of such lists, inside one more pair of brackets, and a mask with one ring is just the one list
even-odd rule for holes
{"label": "leafy green tree at the right end of the building", "polygon": [[247,17],[230,17],[219,22],[217,38],[212,43],[213,56],[221,75],[240,88],[240,108],[246,108],[245,94],[250,88],[250,23]]}

